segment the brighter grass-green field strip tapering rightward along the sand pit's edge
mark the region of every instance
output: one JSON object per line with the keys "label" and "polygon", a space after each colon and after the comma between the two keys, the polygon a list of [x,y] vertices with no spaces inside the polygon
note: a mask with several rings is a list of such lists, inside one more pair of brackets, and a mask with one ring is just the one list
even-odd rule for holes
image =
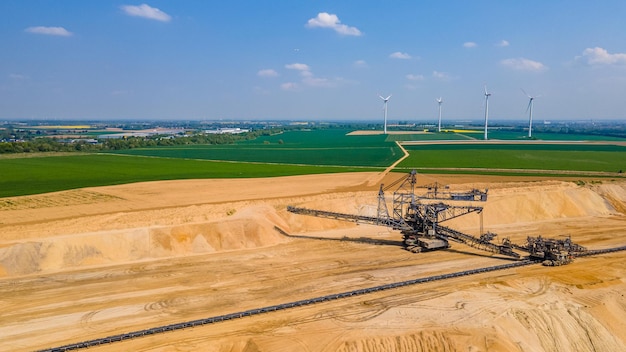
{"label": "brighter grass-green field strip tapering rightward along the sand pit's edge", "polygon": [[380,171],[374,168],[229,163],[104,154],[0,158],[0,170],[0,197],[142,181]]}

